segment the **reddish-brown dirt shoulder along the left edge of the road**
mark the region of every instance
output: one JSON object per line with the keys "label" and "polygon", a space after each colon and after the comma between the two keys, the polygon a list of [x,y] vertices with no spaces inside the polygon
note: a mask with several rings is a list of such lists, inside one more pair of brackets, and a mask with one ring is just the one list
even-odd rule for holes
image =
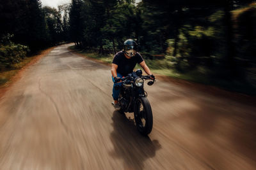
{"label": "reddish-brown dirt shoulder along the left edge of the road", "polygon": [[17,71],[17,73],[12,76],[12,78],[10,78],[9,81],[7,81],[6,83],[4,83],[4,85],[0,86],[0,99],[1,97],[3,97],[4,93],[6,91],[8,91],[8,89],[10,89],[10,87],[12,87],[13,83],[15,83],[15,81],[19,80],[22,76],[22,74],[24,73],[24,71],[31,65],[35,64],[36,62],[38,62],[38,60],[40,60],[42,57],[44,57],[45,55],[47,55],[49,52],[51,52],[51,50],[53,50],[53,48],[55,48],[55,46],[51,47],[51,48],[47,48],[46,50],[42,50],[41,52],[39,52],[37,55],[31,57],[31,61],[28,62],[26,65],[24,65],[23,67],[21,67],[19,69],[19,71]]}

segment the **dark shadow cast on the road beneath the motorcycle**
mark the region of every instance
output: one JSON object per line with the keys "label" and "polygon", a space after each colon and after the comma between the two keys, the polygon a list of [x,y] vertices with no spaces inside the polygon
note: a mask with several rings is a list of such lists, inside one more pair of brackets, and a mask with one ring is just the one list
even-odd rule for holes
{"label": "dark shadow cast on the road beneath the motorcycle", "polygon": [[109,154],[115,159],[124,159],[124,167],[128,169],[142,169],[145,160],[156,155],[161,148],[157,140],[141,136],[136,129],[134,121],[121,115],[118,111],[113,112],[113,132],[110,139],[114,150]]}

